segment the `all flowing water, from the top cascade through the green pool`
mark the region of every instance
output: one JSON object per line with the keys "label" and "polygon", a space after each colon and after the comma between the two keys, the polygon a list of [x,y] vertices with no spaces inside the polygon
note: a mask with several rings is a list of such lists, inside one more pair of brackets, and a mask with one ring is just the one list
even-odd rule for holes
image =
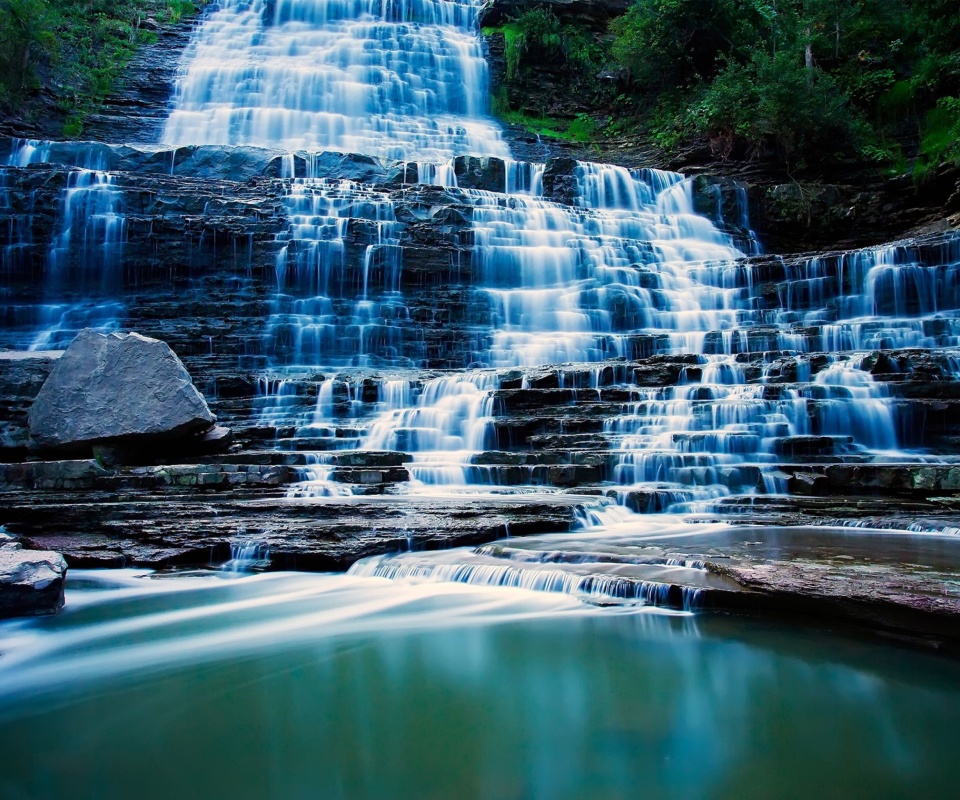
{"label": "all flowing water, from the top cascade through the green pool", "polygon": [[[551,465],[501,468],[504,392],[535,385],[605,404],[604,496],[565,537],[348,575],[243,576],[270,553],[240,534],[217,574],[75,571],[59,617],[0,624],[0,796],[952,795],[956,664],[696,613],[725,579],[644,555],[644,537],[748,534],[632,512],[782,492],[778,465],[814,438],[823,459],[926,457],[869,351],[960,347],[960,237],[751,260],[742,189],[726,220],[655,169],[581,162],[557,192],[489,116],[480,5],[222,0],[184,55],[159,157],[174,173],[182,146],[280,154],[283,230],[244,357],[266,363],[253,421],[304,454],[298,502],[350,493],[343,450],[405,454],[400,495],[553,490]],[[399,177],[334,179],[319,151]],[[459,186],[462,156],[500,164],[502,186]],[[13,143],[4,274],[38,245],[14,178],[67,174],[44,296],[4,307],[6,343],[60,347],[126,318],[136,198],[105,159]],[[407,263],[435,214],[456,245],[441,271],[470,290],[443,371]],[[632,364],[655,356],[685,357],[676,385]],[[956,353],[943,364],[960,375]]]}

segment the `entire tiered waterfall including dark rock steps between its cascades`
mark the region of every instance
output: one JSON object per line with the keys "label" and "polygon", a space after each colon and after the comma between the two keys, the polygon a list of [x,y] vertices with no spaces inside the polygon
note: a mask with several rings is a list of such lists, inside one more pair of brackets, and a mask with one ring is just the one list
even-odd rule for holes
{"label": "entire tiered waterfall including dark rock steps between its cascades", "polygon": [[[250,447],[296,456],[301,499],[719,513],[797,465],[946,447],[898,381],[933,348],[956,376],[960,238],[762,256],[742,186],[724,219],[674,172],[514,161],[480,5],[224,0],[160,144],[13,141],[4,343],[171,341]],[[377,458],[402,477],[368,485]]]}

